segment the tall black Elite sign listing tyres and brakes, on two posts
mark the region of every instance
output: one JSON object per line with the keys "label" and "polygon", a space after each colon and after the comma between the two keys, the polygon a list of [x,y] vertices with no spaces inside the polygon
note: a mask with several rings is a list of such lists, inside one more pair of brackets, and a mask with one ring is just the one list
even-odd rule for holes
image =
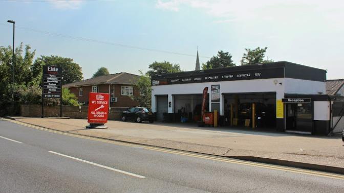
{"label": "tall black Elite sign listing tyres and brakes, on two posts", "polygon": [[60,116],[62,117],[62,67],[43,66],[42,76],[42,118],[44,117],[44,99],[60,99]]}

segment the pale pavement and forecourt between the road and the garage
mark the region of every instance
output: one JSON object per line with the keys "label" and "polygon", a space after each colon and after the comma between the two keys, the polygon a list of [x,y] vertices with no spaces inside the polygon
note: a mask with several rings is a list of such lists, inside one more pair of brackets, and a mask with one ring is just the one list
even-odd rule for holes
{"label": "pale pavement and forecourt between the road and the garage", "polygon": [[85,119],[12,117],[58,131],[203,154],[290,165],[344,174],[341,136],[311,136],[196,124],[109,120],[107,129],[86,129]]}

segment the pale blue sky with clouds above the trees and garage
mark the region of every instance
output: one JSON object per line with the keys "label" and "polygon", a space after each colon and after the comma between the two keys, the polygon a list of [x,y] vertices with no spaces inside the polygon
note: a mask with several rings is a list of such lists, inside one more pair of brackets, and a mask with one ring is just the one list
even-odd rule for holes
{"label": "pale blue sky with clouds above the trees and garage", "polygon": [[240,65],[245,48],[267,46],[270,59],[328,69],[328,79],[344,78],[341,1],[9,1],[0,0],[0,45],[12,44],[6,21],[15,20],[16,45],[30,44],[36,57],[73,58],[84,78],[101,66],[110,73],[139,74],[150,63],[164,60],[193,70],[197,46],[201,63],[223,50]]}

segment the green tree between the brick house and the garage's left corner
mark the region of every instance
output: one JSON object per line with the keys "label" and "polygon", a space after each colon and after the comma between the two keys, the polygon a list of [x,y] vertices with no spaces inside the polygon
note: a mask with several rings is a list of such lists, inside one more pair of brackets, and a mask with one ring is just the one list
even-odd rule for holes
{"label": "green tree between the brick house and the garage's left corner", "polygon": [[132,100],[139,103],[141,107],[150,108],[151,101],[152,101],[152,85],[150,84],[150,77],[148,74],[143,75],[142,71],[140,71],[140,78],[133,80],[133,84],[135,88],[140,90],[140,95],[135,96],[132,95]]}

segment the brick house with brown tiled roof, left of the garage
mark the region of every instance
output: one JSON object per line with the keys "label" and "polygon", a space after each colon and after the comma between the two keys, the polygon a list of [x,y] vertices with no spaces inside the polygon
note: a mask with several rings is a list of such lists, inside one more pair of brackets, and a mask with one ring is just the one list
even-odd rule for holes
{"label": "brick house with brown tiled roof, left of the garage", "polygon": [[131,99],[131,96],[140,94],[134,87],[138,78],[140,76],[130,73],[116,73],[69,83],[63,88],[70,89],[84,104],[88,104],[90,92],[103,92],[110,93],[110,107],[131,107],[138,105]]}

